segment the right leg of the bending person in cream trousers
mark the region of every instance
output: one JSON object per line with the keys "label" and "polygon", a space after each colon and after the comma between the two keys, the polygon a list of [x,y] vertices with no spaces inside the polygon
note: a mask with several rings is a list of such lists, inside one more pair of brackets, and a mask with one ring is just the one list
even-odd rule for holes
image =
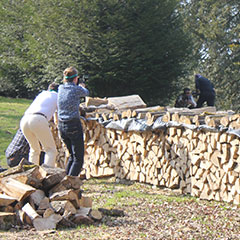
{"label": "right leg of the bending person in cream trousers", "polygon": [[[31,130],[34,131],[37,139],[42,145],[43,151],[45,152],[44,164],[54,167],[57,149],[47,119],[44,116],[35,115],[35,119],[30,127]],[[39,157],[40,152],[38,158]]]}

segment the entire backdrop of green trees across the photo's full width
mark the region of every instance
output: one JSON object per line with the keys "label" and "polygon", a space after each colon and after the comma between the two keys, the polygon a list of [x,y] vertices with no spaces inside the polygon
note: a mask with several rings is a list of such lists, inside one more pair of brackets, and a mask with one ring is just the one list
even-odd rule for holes
{"label": "entire backdrop of green trees across the photo's full width", "polygon": [[0,94],[33,97],[74,65],[92,96],[169,105],[194,73],[239,101],[237,0],[2,0]]}

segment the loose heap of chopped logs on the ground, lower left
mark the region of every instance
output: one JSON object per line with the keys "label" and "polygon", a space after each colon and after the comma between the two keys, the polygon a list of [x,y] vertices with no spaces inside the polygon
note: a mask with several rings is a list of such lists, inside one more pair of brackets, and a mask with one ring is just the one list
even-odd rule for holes
{"label": "loose heap of chopped logs on the ground, lower left", "polygon": [[74,227],[101,220],[92,200],[82,196],[80,177],[61,168],[20,163],[0,174],[0,228],[30,226],[36,230]]}

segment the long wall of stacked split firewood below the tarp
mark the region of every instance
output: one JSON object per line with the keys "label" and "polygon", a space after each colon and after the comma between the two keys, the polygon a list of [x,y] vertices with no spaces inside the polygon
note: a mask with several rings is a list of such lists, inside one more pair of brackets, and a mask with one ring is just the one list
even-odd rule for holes
{"label": "long wall of stacked split firewood below the tarp", "polygon": [[[168,113],[163,119],[170,121],[172,118],[176,120],[176,114]],[[195,121],[196,118],[199,121],[200,117],[191,117]],[[208,116],[207,120],[213,118]],[[181,117],[177,119],[181,121]],[[231,124],[236,129],[239,118],[224,116],[218,122],[225,127]],[[96,120],[82,123],[87,179],[115,175],[156,186],[180,188],[183,193],[201,199],[240,203],[239,138],[227,134],[226,129],[191,130],[178,126],[124,132],[107,129]]]}

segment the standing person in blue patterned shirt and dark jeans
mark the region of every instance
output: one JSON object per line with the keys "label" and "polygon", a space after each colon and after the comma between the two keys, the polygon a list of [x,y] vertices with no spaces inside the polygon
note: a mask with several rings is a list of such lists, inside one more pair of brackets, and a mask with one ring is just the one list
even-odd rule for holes
{"label": "standing person in blue patterned shirt and dark jeans", "polygon": [[80,121],[79,105],[82,97],[88,96],[89,91],[84,83],[79,84],[78,71],[74,67],[63,71],[63,83],[58,92],[58,129],[70,157],[66,173],[78,176],[84,162],[83,130]]}

